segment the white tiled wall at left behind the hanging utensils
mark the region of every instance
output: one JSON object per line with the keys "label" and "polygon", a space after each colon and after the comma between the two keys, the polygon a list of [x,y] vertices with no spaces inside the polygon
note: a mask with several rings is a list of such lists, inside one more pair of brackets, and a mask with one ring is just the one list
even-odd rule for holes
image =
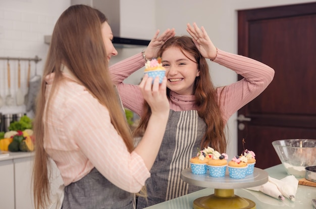
{"label": "white tiled wall at left behind the hanging utensils", "polygon": [[[48,50],[44,35],[51,34],[61,13],[70,5],[65,0],[0,0],[0,57],[35,58],[41,61],[30,62],[30,75],[35,71],[41,75]],[[5,100],[8,94],[7,60],[0,60],[0,95]],[[10,60],[11,95],[15,98],[18,89],[18,61]],[[27,93],[28,61],[20,61],[21,89]],[[16,99],[15,99],[16,101]],[[3,106],[2,114],[25,113],[25,106]],[[32,112],[27,113],[30,117]]]}

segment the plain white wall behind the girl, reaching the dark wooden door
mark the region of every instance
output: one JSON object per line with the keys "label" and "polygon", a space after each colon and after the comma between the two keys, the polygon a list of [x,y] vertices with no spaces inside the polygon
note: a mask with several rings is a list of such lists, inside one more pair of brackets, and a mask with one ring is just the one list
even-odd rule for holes
{"label": "plain white wall behind the girl, reaching the dark wooden door", "polygon": [[[148,1],[149,2],[149,1]],[[155,1],[155,26],[161,31],[167,28],[175,28],[177,35],[188,35],[186,24],[196,22],[198,26],[204,26],[210,39],[222,50],[237,54],[237,11],[244,9],[263,8],[290,4],[302,4],[315,1],[304,0],[157,0]],[[142,7],[140,5],[140,7]],[[142,7],[143,10],[149,7]],[[151,8],[151,7],[150,7]],[[132,15],[129,16],[133,18]],[[149,17],[151,18],[151,17]],[[146,19],[146,16],[144,16]],[[136,20],[134,20],[136,21]],[[139,20],[141,24],[142,20]],[[155,30],[153,30],[152,35]],[[141,34],[142,31],[139,31]],[[151,38],[151,37],[149,37]],[[129,54],[126,49],[119,53],[122,57],[128,57],[140,51],[141,48],[134,49]],[[237,81],[237,75],[218,64],[210,63],[212,80],[215,85],[223,86]],[[136,72],[126,80],[128,83],[137,84],[142,77],[142,71]],[[228,121],[229,144],[227,153],[229,156],[237,154],[237,113]],[[253,139],[255,140],[255,139]],[[239,144],[240,145],[240,144]]]}

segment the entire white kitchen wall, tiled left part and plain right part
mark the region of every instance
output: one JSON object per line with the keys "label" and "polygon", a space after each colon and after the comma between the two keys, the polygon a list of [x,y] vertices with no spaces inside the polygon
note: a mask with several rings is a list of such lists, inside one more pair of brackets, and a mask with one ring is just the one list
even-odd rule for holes
{"label": "entire white kitchen wall, tiled left part and plain right part", "polygon": [[[215,45],[230,53],[237,53],[237,10],[270,6],[310,3],[307,0],[156,0],[128,1],[121,0],[124,13],[123,24],[128,27],[123,33],[131,33],[144,39],[151,39],[156,29],[161,31],[175,28],[177,35],[187,34],[186,24],[196,22],[204,26]],[[41,72],[48,46],[43,43],[43,36],[50,34],[57,18],[70,5],[70,0],[0,0],[0,56],[42,58],[37,69]],[[143,47],[118,48],[119,56],[111,60],[114,64],[141,51]],[[0,61],[0,95],[6,91],[6,61]],[[237,75],[217,64],[210,64],[215,85],[227,85],[237,81]],[[12,62],[12,71],[17,62]],[[26,64],[22,64],[23,80],[26,86]],[[34,63],[32,63],[34,74]],[[12,79],[16,74],[12,72]],[[142,70],[134,73],[126,83],[137,84],[142,77]],[[12,83],[14,81],[12,80]],[[15,81],[16,82],[16,81]],[[13,84],[12,84],[13,85]],[[16,85],[12,87],[15,92]],[[24,89],[26,93],[26,89]],[[0,112],[23,112],[24,107],[3,107]],[[237,122],[235,114],[228,122],[230,143],[228,154],[237,153]]]}

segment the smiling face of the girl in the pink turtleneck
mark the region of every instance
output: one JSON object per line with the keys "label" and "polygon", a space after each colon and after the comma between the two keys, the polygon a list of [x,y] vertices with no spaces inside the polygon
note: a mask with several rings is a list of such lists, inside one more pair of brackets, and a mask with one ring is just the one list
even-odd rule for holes
{"label": "smiling face of the girl in the pink turtleneck", "polygon": [[179,47],[169,47],[162,54],[162,64],[166,68],[167,87],[181,95],[194,94],[194,81],[200,75],[195,59]]}

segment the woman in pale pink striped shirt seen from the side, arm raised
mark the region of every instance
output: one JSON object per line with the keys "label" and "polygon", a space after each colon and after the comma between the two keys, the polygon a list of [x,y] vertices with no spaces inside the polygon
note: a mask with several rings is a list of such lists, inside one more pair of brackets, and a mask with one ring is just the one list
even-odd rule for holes
{"label": "woman in pale pink striped shirt seen from the side, arm raised", "polygon": [[106,17],[84,5],[69,7],[55,25],[34,119],[35,208],[49,204],[50,159],[65,186],[63,208],[133,208],[150,176],[169,116],[167,79],[152,84],[144,76],[137,86],[152,113],[134,148],[109,73],[112,39]]}

